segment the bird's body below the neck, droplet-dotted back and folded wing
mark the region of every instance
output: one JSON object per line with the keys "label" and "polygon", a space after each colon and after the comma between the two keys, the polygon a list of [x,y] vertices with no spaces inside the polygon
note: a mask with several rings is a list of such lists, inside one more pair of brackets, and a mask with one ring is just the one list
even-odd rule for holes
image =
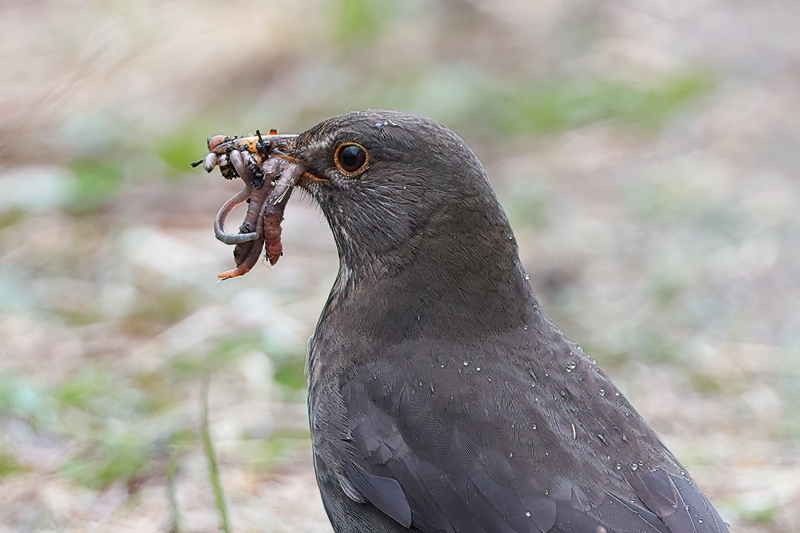
{"label": "bird's body below the neck, droplet-dotted back and folded wing", "polygon": [[[387,531],[727,531],[594,361],[534,317],[483,342],[377,351],[321,324],[309,401],[340,531],[366,512]],[[337,363],[315,374],[323,360]]]}

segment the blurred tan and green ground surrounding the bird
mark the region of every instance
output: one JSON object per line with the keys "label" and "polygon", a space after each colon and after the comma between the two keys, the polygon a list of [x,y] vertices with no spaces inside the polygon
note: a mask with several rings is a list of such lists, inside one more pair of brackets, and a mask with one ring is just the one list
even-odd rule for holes
{"label": "blurred tan and green ground surrounding the bird", "polygon": [[[330,531],[303,359],[334,279],[213,236],[206,138],[397,108],[487,168],[545,310],[739,532],[800,530],[800,3],[4,0],[0,531]],[[232,219],[233,220],[233,219]],[[177,527],[175,523],[177,520]]]}

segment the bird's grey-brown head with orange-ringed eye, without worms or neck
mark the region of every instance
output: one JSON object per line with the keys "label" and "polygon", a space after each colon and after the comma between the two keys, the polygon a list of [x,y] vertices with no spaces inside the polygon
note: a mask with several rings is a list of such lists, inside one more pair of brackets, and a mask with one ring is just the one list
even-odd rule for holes
{"label": "bird's grey-brown head with orange-ringed eye, without worms or neck", "polygon": [[432,120],[354,112],[300,134],[289,155],[305,168],[297,185],[322,208],[350,266],[396,265],[422,255],[453,262],[466,254],[473,264],[509,251],[516,258],[480,161]]}

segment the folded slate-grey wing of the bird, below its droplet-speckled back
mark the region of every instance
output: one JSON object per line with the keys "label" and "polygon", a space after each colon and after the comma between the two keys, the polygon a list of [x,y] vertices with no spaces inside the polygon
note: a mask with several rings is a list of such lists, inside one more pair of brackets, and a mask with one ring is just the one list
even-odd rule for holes
{"label": "folded slate-grey wing of the bird, below its droplet-speckled back", "polygon": [[[591,464],[548,465],[552,443],[543,441],[531,454],[542,459],[537,472],[499,444],[505,430],[492,417],[502,415],[486,410],[483,398],[430,393],[425,377],[384,379],[393,371],[373,368],[342,389],[350,413],[342,459],[347,482],[406,527],[425,533],[727,531],[696,485],[662,470],[626,470],[606,481]],[[551,449],[556,461],[568,459]],[[585,469],[586,483],[576,481],[581,474],[561,476],[563,467]]]}

